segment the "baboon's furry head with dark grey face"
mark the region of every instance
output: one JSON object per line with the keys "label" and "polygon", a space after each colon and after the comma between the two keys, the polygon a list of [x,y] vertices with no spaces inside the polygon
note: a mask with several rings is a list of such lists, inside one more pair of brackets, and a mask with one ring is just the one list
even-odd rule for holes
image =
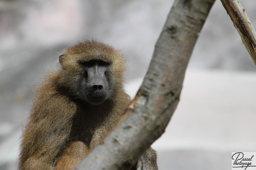
{"label": "baboon's furry head with dark grey face", "polygon": [[91,104],[111,99],[124,82],[124,58],[114,48],[97,41],[80,42],[59,57],[60,85]]}

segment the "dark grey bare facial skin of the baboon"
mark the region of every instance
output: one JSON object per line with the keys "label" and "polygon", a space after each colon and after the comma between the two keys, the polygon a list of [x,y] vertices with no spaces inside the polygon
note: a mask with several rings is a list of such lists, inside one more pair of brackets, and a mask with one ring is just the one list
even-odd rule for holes
{"label": "dark grey bare facial skin of the baboon", "polygon": [[101,60],[91,60],[81,63],[84,68],[84,78],[81,83],[81,97],[91,104],[104,102],[108,94],[108,67],[110,63]]}

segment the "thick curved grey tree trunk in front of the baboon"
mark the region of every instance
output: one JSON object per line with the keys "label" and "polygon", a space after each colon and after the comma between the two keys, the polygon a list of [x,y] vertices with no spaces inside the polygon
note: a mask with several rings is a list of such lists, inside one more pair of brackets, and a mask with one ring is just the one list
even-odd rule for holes
{"label": "thick curved grey tree trunk in front of the baboon", "polygon": [[176,0],[148,72],[116,128],[76,169],[129,169],[164,133],[178,104],[189,57],[215,0]]}

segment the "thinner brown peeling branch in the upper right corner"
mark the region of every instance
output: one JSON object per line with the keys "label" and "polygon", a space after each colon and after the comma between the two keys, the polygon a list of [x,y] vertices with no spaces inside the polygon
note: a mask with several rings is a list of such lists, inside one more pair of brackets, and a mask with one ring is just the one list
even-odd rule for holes
{"label": "thinner brown peeling branch in the upper right corner", "polygon": [[256,65],[256,33],[238,0],[220,0],[236,27],[245,48]]}

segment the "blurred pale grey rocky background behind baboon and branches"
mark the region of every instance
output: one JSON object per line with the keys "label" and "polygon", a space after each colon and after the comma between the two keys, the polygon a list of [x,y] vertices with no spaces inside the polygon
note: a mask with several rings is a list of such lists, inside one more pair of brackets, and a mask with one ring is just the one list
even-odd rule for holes
{"label": "blurred pale grey rocky background behind baboon and branches", "polygon": [[[240,0],[256,26],[255,0]],[[127,58],[133,97],[173,0],[0,0],[0,170],[17,169],[32,90],[60,52],[97,38]],[[216,0],[188,64],[180,103],[152,145],[160,170],[228,169],[256,151],[256,66]]]}

